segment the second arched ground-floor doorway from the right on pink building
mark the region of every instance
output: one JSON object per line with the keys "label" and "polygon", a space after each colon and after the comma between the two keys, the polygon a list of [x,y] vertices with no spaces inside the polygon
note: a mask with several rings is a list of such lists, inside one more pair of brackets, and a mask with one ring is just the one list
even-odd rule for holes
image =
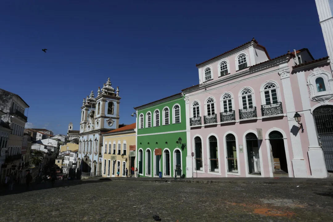
{"label": "second arched ground-floor doorway from the right on pink building", "polygon": [[252,132],[247,133],[245,138],[249,174],[261,175],[258,138]]}

